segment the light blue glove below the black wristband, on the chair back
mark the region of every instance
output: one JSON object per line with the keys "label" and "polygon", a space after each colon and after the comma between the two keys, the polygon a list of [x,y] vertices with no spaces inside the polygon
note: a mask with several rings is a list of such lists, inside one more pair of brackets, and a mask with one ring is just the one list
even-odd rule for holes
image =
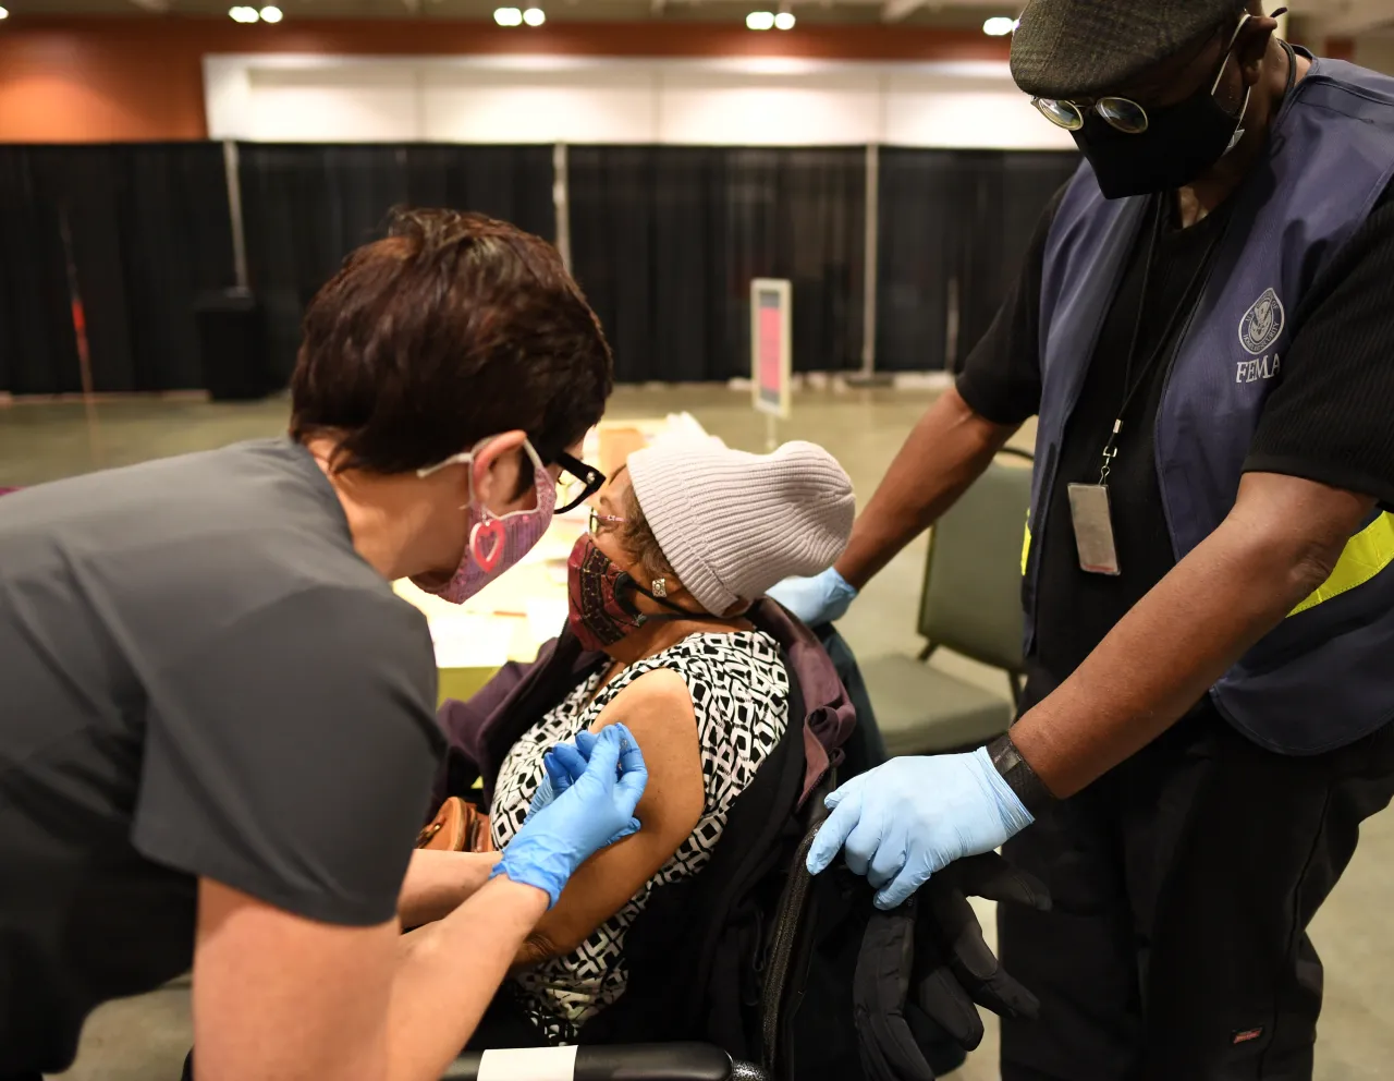
{"label": "light blue glove below the black wristband, on the chair back", "polygon": [[809,870],[828,868],[846,845],[848,866],[895,908],[955,859],[991,852],[1032,824],[993,766],[972,755],[892,759],[828,796],[832,815],[809,849]]}

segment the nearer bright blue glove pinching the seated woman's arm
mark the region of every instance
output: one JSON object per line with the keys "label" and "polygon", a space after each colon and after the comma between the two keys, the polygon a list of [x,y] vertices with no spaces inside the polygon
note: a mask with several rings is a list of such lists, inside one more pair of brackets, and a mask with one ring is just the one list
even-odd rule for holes
{"label": "nearer bright blue glove pinching the seated woman's arm", "polygon": [[595,741],[585,771],[537,815],[528,815],[489,877],[507,875],[556,904],[576,869],[595,852],[638,831],[634,808],[648,784],[638,741],[612,724]]}

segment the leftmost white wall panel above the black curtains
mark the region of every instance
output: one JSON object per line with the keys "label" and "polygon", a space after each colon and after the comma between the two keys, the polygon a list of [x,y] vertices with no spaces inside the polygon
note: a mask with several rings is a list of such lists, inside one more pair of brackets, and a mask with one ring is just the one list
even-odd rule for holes
{"label": "leftmost white wall panel above the black curtains", "polygon": [[420,138],[410,64],[252,68],[251,128],[266,142],[395,142]]}

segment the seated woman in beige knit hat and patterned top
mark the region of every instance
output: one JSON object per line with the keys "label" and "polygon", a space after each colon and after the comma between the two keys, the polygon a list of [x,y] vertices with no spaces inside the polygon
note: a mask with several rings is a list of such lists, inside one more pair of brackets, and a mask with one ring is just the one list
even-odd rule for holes
{"label": "seated woman in beige knit hat and patterned top", "polygon": [[846,473],[804,442],[767,456],[715,442],[640,451],[601,494],[570,559],[570,628],[611,663],[513,745],[491,830],[499,849],[517,833],[551,748],[616,723],[648,763],[643,829],[572,877],[519,955],[484,1045],[500,1014],[510,1042],[523,1018],[538,1043],[572,1042],[625,993],[626,929],[655,891],[701,872],[789,723],[779,649],[743,614],[783,577],[831,565],[853,512]]}

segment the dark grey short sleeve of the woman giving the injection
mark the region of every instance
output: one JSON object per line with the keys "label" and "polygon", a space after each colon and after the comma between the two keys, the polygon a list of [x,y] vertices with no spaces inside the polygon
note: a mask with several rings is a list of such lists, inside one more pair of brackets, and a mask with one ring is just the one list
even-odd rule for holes
{"label": "dark grey short sleeve of the woman giving the injection", "polygon": [[328,923],[393,916],[442,745],[420,612],[311,587],[145,682],[146,858]]}

